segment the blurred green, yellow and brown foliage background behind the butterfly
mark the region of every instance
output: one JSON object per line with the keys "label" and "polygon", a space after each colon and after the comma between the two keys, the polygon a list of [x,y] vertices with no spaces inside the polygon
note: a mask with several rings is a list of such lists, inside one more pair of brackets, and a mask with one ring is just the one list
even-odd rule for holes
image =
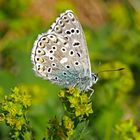
{"label": "blurred green, yellow and brown foliage background behind the butterfly", "polygon": [[[115,126],[128,119],[140,129],[139,0],[0,0],[0,100],[15,86],[30,91],[28,115],[36,139],[43,137],[51,117],[62,116],[61,87],[35,76],[31,49],[37,35],[67,9],[83,26],[92,71],[125,68],[99,75],[85,139],[117,140]],[[8,132],[1,123],[0,139],[8,139]]]}

